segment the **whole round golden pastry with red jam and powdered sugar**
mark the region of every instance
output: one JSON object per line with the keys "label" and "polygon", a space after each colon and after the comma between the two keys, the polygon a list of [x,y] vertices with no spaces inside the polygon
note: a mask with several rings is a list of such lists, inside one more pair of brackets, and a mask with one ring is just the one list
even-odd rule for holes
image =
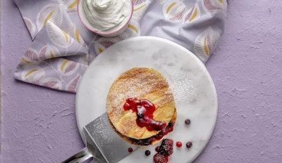
{"label": "whole round golden pastry with red jam and powdered sugar", "polygon": [[160,140],[176,119],[173,93],[153,68],[136,67],[121,74],[109,89],[106,109],[114,130],[137,145],[148,145],[139,140]]}

